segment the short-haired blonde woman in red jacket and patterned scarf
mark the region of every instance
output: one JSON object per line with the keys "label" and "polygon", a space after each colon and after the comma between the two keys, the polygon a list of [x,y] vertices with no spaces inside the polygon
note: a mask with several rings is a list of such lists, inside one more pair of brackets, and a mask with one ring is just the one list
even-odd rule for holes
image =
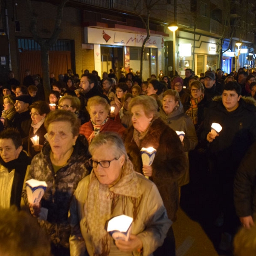
{"label": "short-haired blonde woman in red jacket and patterned scarf", "polygon": [[115,131],[122,137],[125,127],[109,118],[110,105],[100,96],[94,96],[87,102],[90,121],[81,125],[79,133],[83,134],[89,144],[95,136],[105,131]]}

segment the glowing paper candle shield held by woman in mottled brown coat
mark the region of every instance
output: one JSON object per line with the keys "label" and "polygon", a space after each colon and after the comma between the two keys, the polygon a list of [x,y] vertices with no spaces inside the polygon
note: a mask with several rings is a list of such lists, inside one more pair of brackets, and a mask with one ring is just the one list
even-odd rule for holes
{"label": "glowing paper candle shield held by woman in mottled brown coat", "polygon": [[39,204],[41,201],[44,191],[47,188],[47,183],[45,181],[30,179],[26,181],[26,192],[28,196],[28,201],[30,204]]}

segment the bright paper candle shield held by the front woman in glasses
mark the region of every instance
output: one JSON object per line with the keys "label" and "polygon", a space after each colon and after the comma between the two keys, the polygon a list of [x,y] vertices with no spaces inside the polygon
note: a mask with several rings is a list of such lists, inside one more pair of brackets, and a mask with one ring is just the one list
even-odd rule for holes
{"label": "bright paper candle shield held by the front woman in glasses", "polygon": [[114,240],[129,241],[132,221],[133,218],[127,215],[113,217],[108,221],[107,231],[111,234]]}

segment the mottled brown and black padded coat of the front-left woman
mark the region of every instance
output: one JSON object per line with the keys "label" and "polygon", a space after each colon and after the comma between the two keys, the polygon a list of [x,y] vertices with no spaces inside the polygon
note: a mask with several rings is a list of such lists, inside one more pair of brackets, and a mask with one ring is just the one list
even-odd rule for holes
{"label": "mottled brown and black padded coat of the front-left woman", "polygon": [[[79,181],[89,174],[86,168],[86,161],[89,158],[88,142],[80,135],[67,165],[56,173],[50,160],[50,151],[50,145],[46,143],[42,151],[35,155],[27,180],[36,179],[47,183],[41,207],[48,209],[48,215],[47,221],[39,221],[40,225],[46,228],[54,244],[69,247],[68,210]],[[26,189],[23,190],[22,195],[25,203],[28,204]]]}

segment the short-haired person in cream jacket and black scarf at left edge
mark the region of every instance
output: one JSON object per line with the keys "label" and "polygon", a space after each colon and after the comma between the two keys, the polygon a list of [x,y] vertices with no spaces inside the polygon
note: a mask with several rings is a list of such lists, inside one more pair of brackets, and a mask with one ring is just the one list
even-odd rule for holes
{"label": "short-haired person in cream jacket and black scarf at left edge", "polygon": [[22,149],[17,130],[7,128],[0,133],[0,209],[12,205],[20,209],[23,182],[31,162]]}

